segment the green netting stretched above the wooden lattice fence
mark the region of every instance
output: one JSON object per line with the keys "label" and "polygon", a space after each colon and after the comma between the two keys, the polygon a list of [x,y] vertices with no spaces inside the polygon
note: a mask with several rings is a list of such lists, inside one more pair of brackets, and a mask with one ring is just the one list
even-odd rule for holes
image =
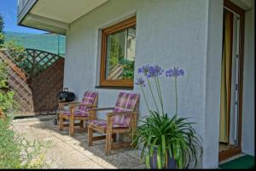
{"label": "green netting stretched above the wooden lattice fence", "polygon": [[47,34],[30,34],[5,31],[3,32],[5,42],[16,41],[24,48],[43,50],[52,54],[65,56],[66,37],[63,35]]}

